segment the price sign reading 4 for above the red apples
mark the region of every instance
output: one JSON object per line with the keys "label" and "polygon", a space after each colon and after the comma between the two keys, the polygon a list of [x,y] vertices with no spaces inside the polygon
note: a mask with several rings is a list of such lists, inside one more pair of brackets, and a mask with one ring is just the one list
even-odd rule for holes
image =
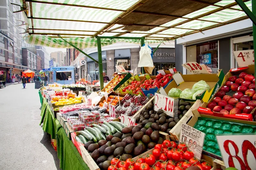
{"label": "price sign reading 4 for above the red apples", "polygon": [[254,50],[234,51],[233,55],[239,67],[247,67],[254,64]]}

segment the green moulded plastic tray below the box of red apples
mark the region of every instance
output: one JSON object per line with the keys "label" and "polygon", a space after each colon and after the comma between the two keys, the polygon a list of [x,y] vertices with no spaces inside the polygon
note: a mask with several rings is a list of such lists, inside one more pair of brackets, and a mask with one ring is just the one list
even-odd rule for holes
{"label": "green moulded plastic tray below the box of red apples", "polygon": [[228,122],[224,120],[198,117],[194,128],[205,133],[203,150],[221,157],[215,134],[223,133],[256,133],[256,126]]}

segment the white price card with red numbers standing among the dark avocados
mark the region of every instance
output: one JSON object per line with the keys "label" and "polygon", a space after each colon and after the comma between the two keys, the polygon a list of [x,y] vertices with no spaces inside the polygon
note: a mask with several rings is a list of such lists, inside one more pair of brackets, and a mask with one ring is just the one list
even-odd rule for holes
{"label": "white price card with red numbers standing among the dark avocados", "polygon": [[168,96],[155,93],[154,110],[164,110],[168,116],[174,117],[173,114],[174,99]]}

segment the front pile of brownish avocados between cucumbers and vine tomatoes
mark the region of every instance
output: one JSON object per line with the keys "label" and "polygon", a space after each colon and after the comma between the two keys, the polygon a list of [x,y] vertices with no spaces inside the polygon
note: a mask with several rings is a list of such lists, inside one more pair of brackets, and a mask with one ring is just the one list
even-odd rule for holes
{"label": "front pile of brownish avocados between cucumbers and vine tomatoes", "polygon": [[98,143],[89,141],[84,147],[100,169],[107,170],[111,159],[116,156],[125,161],[154,148],[156,144],[162,144],[164,139],[159,137],[159,132],[154,131],[152,125],[152,122],[143,122],[124,127],[122,132],[108,135],[106,140]]}

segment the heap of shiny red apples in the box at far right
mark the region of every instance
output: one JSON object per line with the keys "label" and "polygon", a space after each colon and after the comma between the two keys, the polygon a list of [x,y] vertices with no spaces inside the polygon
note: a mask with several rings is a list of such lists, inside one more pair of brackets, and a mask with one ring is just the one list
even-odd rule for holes
{"label": "heap of shiny red apples in the box at far right", "polygon": [[[254,76],[241,73],[239,77],[231,76],[215,94],[207,109],[224,115],[250,114],[256,107]],[[251,87],[251,89],[250,89]]]}

